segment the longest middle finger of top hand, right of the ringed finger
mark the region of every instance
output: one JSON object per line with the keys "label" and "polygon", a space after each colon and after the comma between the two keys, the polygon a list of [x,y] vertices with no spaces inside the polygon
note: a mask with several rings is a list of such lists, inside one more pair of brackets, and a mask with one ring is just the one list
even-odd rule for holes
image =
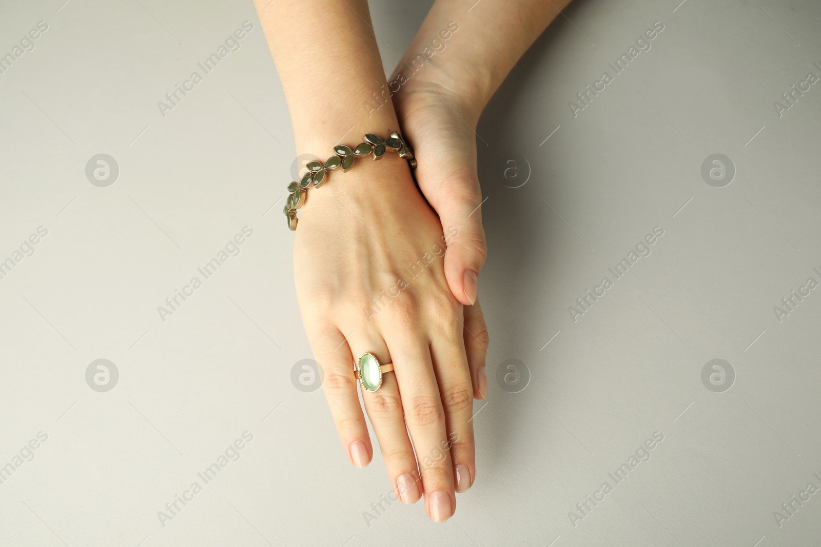
{"label": "longest middle finger of top hand, right of the ringed finger", "polygon": [[[396,319],[394,319],[396,321]],[[419,333],[413,321],[400,321],[406,331]],[[422,476],[424,504],[428,516],[445,522],[456,509],[453,490],[453,467],[447,450],[445,413],[427,339],[417,335],[386,335],[391,348],[394,371],[401,390],[402,410],[416,461]]]}

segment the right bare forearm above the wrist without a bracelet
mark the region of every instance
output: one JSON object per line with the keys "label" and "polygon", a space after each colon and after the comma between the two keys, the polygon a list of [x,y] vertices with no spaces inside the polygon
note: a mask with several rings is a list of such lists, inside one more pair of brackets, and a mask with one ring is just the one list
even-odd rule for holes
{"label": "right bare forearm above the wrist without a bracelet", "polygon": [[[447,83],[478,121],[519,58],[570,1],[436,0],[397,66],[391,89]],[[427,59],[424,66],[420,57]]]}

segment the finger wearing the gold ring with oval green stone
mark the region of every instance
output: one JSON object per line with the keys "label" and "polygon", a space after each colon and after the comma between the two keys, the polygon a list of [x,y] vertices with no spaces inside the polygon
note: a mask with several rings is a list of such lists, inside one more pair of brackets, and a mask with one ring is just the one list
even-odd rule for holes
{"label": "finger wearing the gold ring with oval green stone", "polygon": [[[355,349],[355,355],[369,352],[382,364],[391,362],[388,348],[378,334],[351,335],[348,343]],[[422,485],[413,445],[410,444],[405,426],[397,377],[393,372],[386,372],[378,390],[370,392],[362,385],[360,388],[365,411],[374,427],[385,468],[391,477],[394,494],[402,503],[415,504],[422,497]]]}

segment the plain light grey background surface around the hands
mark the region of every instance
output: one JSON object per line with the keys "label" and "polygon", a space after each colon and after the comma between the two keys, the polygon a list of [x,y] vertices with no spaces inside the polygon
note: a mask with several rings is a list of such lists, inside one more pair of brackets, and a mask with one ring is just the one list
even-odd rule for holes
{"label": "plain light grey background surface around the hands", "polygon": [[[366,524],[390,491],[380,457],[351,467],[321,391],[291,384],[310,358],[280,212],[294,148],[250,2],[0,4],[2,54],[48,24],[0,75],[0,260],[48,230],[0,280],[0,466],[48,435],[0,485],[0,544],[819,545],[821,494],[781,527],[773,512],[821,487],[821,289],[781,322],[773,307],[821,281],[821,84],[781,117],[773,102],[821,76],[821,6],[680,1],[575,2],[479,124],[489,394],[475,486],[444,525],[421,504]],[[430,3],[372,2],[386,73]],[[243,21],[241,49],[163,117]],[[654,21],[652,48],[574,117]],[[85,176],[98,153],[119,166],[107,188]],[[720,189],[701,176],[714,153],[736,167]],[[241,253],[161,321],[243,226]],[[574,322],[567,308],[654,226],[652,253]],[[119,371],[108,392],[85,381],[99,358]],[[701,381],[713,358],[736,372],[723,393]],[[530,370],[521,393],[495,380],[507,359]],[[162,526],[244,431],[241,458]]]}

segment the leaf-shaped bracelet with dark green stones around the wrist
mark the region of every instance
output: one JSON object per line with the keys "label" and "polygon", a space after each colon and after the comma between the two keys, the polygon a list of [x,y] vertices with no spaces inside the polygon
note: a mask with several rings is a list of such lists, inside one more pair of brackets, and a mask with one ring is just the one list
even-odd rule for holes
{"label": "leaf-shaped bracelet with dark green stones around the wrist", "polygon": [[356,145],[356,148],[342,145],[333,147],[335,154],[328,157],[323,165],[322,162],[308,162],[305,166],[308,171],[299,182],[291,182],[288,185],[288,198],[285,202],[285,207],[282,212],[288,219],[288,228],[296,230],[296,209],[305,205],[305,199],[308,198],[308,189],[312,186],[319,188],[328,182],[328,171],[333,171],[338,167],[342,167],[342,172],[351,169],[354,166],[354,160],[357,156],[372,155],[374,160],[381,159],[388,150],[399,153],[399,157],[404,158],[410,164],[411,169],[416,168],[416,159],[413,156],[413,150],[407,144],[405,139],[402,139],[401,134],[393,131],[388,139],[382,140],[373,133],[365,134],[364,142]]}

